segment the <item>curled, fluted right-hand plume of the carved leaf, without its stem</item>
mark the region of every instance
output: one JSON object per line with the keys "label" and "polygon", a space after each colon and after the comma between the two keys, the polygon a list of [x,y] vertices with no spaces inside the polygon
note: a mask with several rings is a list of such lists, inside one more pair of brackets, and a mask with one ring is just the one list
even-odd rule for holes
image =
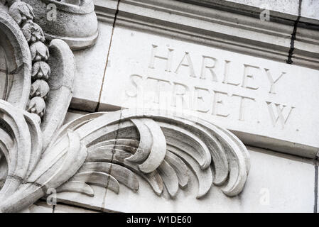
{"label": "curled, fluted right-hand plume of the carved leaf, without its stem", "polygon": [[[89,114],[68,123],[51,143],[55,148],[79,136],[87,148],[80,170],[58,192],[73,191],[93,196],[89,184],[119,193],[119,183],[139,189],[139,175],[160,196],[171,197],[188,187],[188,170],[198,179],[197,198],[215,184],[228,196],[242,192],[249,172],[249,154],[229,131],[198,118],[183,118],[158,111],[123,110]],[[80,147],[79,147],[80,149]]]}

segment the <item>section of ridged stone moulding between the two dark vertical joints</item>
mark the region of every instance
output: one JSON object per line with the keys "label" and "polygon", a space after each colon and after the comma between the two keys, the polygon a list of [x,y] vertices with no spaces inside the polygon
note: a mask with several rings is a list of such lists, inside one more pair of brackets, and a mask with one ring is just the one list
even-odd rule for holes
{"label": "section of ridged stone moulding between the two dark vertical joints", "polygon": [[120,1],[116,25],[136,28],[146,33],[184,38],[194,43],[280,62],[286,61],[293,21],[261,21],[260,12],[243,13],[243,7],[233,4],[225,7],[225,11],[220,10],[219,5],[227,1],[209,1],[208,6],[202,4],[202,1],[197,1],[198,4],[187,2]]}

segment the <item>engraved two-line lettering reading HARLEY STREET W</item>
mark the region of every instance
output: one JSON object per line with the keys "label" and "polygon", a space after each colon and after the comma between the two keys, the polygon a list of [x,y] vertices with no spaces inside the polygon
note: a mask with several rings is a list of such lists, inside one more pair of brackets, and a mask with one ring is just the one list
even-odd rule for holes
{"label": "engraved two-line lettering reading HARLEY STREET W", "polygon": [[[237,121],[248,121],[248,118],[251,117],[253,118],[251,120],[257,123],[260,123],[261,119],[255,119],[256,114],[254,115],[253,113],[259,111],[255,109],[256,102],[259,101],[264,106],[264,109],[260,111],[264,111],[270,116],[270,127],[274,126],[282,129],[286,127],[295,107],[278,103],[276,99],[274,101],[266,101],[265,105],[264,100],[264,96],[277,93],[276,89],[279,89],[279,84],[283,80],[281,78],[286,72],[279,71],[278,74],[275,74],[275,71],[271,71],[266,67],[240,63],[242,64],[240,68],[242,72],[238,74],[237,71],[233,70],[237,66],[240,67],[239,62],[220,60],[219,58],[210,57],[208,54],[200,55],[201,65],[193,65],[192,60],[194,59],[190,52],[182,52],[183,57],[180,55],[181,59],[178,59],[176,65],[174,65],[173,55],[175,55],[176,50],[170,48],[163,50],[165,51],[160,54],[158,46],[152,45],[151,60],[148,67],[154,69],[155,65],[158,64],[163,67],[162,70],[165,69],[166,72],[172,73],[166,73],[164,77],[161,74],[153,74],[155,72],[151,71],[148,72],[151,73],[149,75],[151,77],[131,74],[129,87],[125,91],[126,96],[136,99],[143,96],[142,101],[150,105],[151,108],[158,109],[158,107],[163,107],[163,110],[170,111],[172,109],[176,111],[187,110],[192,111],[192,114],[197,112],[223,118],[229,118],[230,116]],[[195,62],[199,61],[196,60]],[[177,65],[177,63],[179,64]],[[195,70],[200,71],[197,72]],[[185,78],[184,83],[184,78],[179,77],[179,75],[185,74],[184,72],[187,73],[187,76],[196,79],[189,80]],[[179,75],[176,76],[174,73]],[[260,73],[263,77],[260,77]],[[268,82],[265,82],[265,80]],[[258,84],[261,82],[266,83],[266,90],[264,87],[261,89],[261,85],[264,86],[264,84]],[[260,94],[252,92],[252,90],[255,91],[257,89],[259,89]],[[261,94],[261,92],[264,94]],[[260,103],[258,104],[260,106]],[[252,111],[252,113],[249,113],[249,111]],[[263,121],[261,125],[264,126],[264,123],[266,122]]]}

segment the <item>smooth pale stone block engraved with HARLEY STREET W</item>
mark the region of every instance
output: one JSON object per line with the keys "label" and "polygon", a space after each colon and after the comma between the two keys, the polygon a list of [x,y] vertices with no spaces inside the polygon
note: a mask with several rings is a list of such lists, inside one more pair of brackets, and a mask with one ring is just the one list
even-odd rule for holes
{"label": "smooth pale stone block engraved with HARLEY STREET W", "polygon": [[244,142],[317,154],[316,70],[125,28],[115,28],[110,51],[99,111],[109,105],[177,105],[178,111],[197,110],[198,116],[221,123]]}

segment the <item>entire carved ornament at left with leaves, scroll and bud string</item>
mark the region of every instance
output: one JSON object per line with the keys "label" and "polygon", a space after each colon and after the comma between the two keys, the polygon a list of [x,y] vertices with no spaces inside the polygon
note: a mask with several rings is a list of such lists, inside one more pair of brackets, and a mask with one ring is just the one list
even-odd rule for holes
{"label": "entire carved ornament at left with leaves, scroll and bud string", "polygon": [[124,109],[61,127],[72,98],[74,57],[63,40],[45,45],[31,6],[46,1],[26,2],[0,4],[1,212],[21,211],[48,189],[94,196],[92,184],[116,193],[124,184],[138,191],[136,175],[158,196],[166,190],[174,198],[188,187],[189,170],[198,179],[198,199],[212,185],[227,196],[242,192],[249,153],[236,136],[208,121]]}

